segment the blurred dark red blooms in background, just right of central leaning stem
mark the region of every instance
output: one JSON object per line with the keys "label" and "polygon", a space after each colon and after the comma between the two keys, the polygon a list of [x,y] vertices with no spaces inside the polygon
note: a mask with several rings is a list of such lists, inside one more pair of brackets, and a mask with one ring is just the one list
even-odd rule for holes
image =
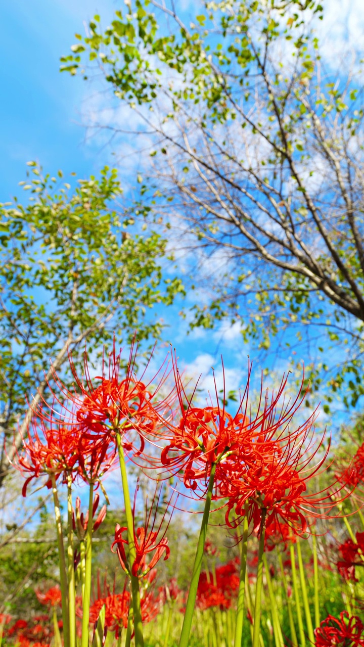
{"label": "blurred dark red blooms in background, just right of central leaning stem", "polygon": [[214,571],[203,571],[199,576],[197,606],[199,609],[219,607],[229,609],[239,588],[238,560],[231,560]]}

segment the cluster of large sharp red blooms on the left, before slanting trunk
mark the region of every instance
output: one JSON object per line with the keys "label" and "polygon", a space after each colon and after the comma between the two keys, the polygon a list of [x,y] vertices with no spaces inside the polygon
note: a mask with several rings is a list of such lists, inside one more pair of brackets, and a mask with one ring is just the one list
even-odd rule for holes
{"label": "cluster of large sharp red blooms on the left, before slanting trunk", "polygon": [[[159,421],[159,408],[165,410],[166,402],[152,406],[155,389],[133,374],[133,347],[124,378],[119,375],[121,359],[115,347],[109,355],[108,375],[103,362],[102,375],[94,380],[90,377],[86,355],[85,380],[78,378],[72,358],[69,359],[73,390],[67,389],[54,374],[62,399],[54,395],[50,406],[41,402],[34,411],[32,430],[23,438],[23,451],[18,452],[14,445],[15,466],[27,476],[23,496],[28,483],[40,476],[48,478],[48,487],[52,476],[56,479],[72,476],[73,480],[96,483],[113,466],[115,432],[122,436],[126,450],[141,454],[145,437],[153,435]],[[158,388],[162,383],[163,379]]]}

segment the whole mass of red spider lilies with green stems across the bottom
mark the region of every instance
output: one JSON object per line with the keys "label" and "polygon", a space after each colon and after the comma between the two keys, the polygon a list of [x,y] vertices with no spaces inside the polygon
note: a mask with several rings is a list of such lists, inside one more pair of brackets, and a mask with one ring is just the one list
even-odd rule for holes
{"label": "whole mass of red spider lilies with green stems across the bottom", "polygon": [[[31,428],[14,462],[25,477],[24,496],[30,483],[38,483],[42,478],[52,488],[60,562],[60,590],[54,599],[62,606],[61,636],[54,612],[56,602],[51,601],[53,598],[48,592],[54,615],[54,642],[61,644],[63,640],[65,647],[76,647],[79,643],[81,647],[89,647],[92,641],[100,647],[109,630],[115,632],[119,645],[124,635],[126,647],[131,640],[135,641],[135,647],[143,647],[145,625],[161,611],[163,596],[168,603],[179,597],[174,582],[158,594],[154,586],[159,561],[167,560],[170,554],[166,514],[176,507],[175,492],[179,490],[181,496],[202,501],[204,506],[190,587],[183,599],[179,647],[190,644],[195,611],[235,606],[230,644],[240,647],[244,641],[247,607],[250,630],[246,622],[245,629],[251,631],[253,647],[258,647],[262,641],[260,606],[264,568],[269,595],[274,598],[266,554],[277,543],[284,549],[289,546],[294,582],[296,538],[307,536],[317,518],[339,515],[337,506],[343,504],[361,479],[359,458],[343,474],[336,475],[330,485],[315,491],[313,483],[319,481],[327,466],[330,443],[325,447],[325,435],[318,436],[315,432],[315,412],[302,424],[295,425],[295,415],[306,395],[302,395],[302,385],[301,395],[293,402],[285,396],[287,377],[282,378],[277,391],[264,391],[262,386],[258,405],[253,409],[249,395],[251,364],[234,414],[225,407],[225,394],[220,402],[218,386],[208,406],[197,406],[194,393],[192,396],[187,393],[173,355],[172,370],[163,365],[152,380],[147,380],[146,371],[137,377],[134,347],[125,370],[114,347],[108,361],[103,362],[99,377],[91,378],[86,356],[84,378],[77,375],[71,357],[70,364],[73,388],[66,388],[54,375],[58,396],[54,395],[51,404],[44,401],[36,408]],[[171,380],[172,389],[168,392]],[[112,593],[106,584],[104,593],[98,586],[98,597],[93,601],[93,533],[106,516],[106,505],[98,511],[98,489],[106,496],[104,479],[118,463],[125,514],[123,525],[117,524],[115,528],[111,549],[119,558],[126,580],[118,593],[115,586]],[[146,501],[144,523],[139,524],[138,484],[131,503],[128,474],[131,463],[144,476],[157,481],[152,501],[149,505]],[[169,500],[162,503],[163,489],[172,479],[177,479],[180,487],[174,485]],[[67,542],[62,532],[61,483],[67,487]],[[75,488],[80,483],[86,484],[89,490],[85,514],[81,511],[80,499],[74,499]],[[220,566],[213,573],[209,570],[201,573],[204,555],[209,551],[207,532],[212,502],[218,508],[225,508],[225,524],[235,534],[240,560],[238,564],[234,561]],[[157,523],[157,514],[163,506],[162,519]],[[76,549],[74,536],[78,540]],[[249,542],[255,544],[256,540],[253,604],[247,563]],[[329,616],[320,624],[316,614],[313,628],[302,580],[299,542],[297,557],[308,640],[319,646],[364,645],[363,626],[354,615],[341,614],[340,619]],[[355,567],[363,559],[361,535],[343,544],[341,557],[338,568],[347,579],[354,580]],[[316,576],[316,562],[315,569]],[[283,564],[282,577],[285,578]],[[224,582],[229,582],[229,589]],[[48,603],[47,595],[44,604]],[[291,644],[302,645],[305,644],[302,618],[298,619],[299,642],[289,598]],[[283,647],[276,611],[272,601],[275,641],[277,647]],[[337,642],[332,636],[338,637]],[[167,647],[167,637],[165,641]]]}

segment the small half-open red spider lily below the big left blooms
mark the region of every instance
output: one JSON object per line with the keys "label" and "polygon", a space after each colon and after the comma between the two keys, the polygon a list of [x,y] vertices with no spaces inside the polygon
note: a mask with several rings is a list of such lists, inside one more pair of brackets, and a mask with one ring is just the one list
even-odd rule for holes
{"label": "small half-open red spider lily below the big left blooms", "polygon": [[[137,485],[137,488],[135,490],[133,520],[135,520],[135,503],[136,503],[138,488],[139,488],[139,485]],[[119,523],[117,523],[115,527],[115,541],[111,546],[111,550],[116,545],[117,547],[116,552],[118,554],[120,564],[124,569],[124,571],[129,575],[132,574],[134,576],[142,577],[147,573],[149,573],[149,571],[154,568],[155,564],[159,562],[163,554],[165,554],[164,561],[167,560],[170,555],[170,549],[168,547],[168,539],[165,536],[170,520],[166,525],[166,529],[163,532],[163,535],[161,537],[159,537],[159,535],[161,533],[161,527],[163,525],[163,521],[165,520],[166,512],[168,510],[168,506],[170,505],[172,498],[170,499],[170,501],[168,501],[166,505],[166,509],[163,514],[161,523],[159,523],[158,529],[155,530],[155,521],[156,521],[157,511],[159,508],[159,500],[161,498],[161,492],[162,492],[162,488],[159,490],[159,494],[157,496],[157,490],[155,490],[154,498],[152,500],[152,505],[150,506],[149,510],[148,510],[148,501],[147,501],[146,509],[145,509],[144,525],[138,527],[137,529],[135,529],[135,526],[133,528],[136,558],[132,568],[130,568],[130,565],[128,564],[128,559],[126,558],[126,553],[124,549],[124,544],[128,544],[128,539],[122,536],[123,533],[127,531],[127,528],[120,527]],[[152,514],[153,514],[152,525],[150,525]],[[154,553],[154,554],[150,559],[150,561],[147,563],[146,556],[150,553]]]}

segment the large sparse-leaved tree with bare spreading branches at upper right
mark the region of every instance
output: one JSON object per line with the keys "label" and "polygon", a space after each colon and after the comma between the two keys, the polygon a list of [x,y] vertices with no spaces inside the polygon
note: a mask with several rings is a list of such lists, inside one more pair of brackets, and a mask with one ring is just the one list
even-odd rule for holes
{"label": "large sparse-leaved tree with bare spreading branches at upper right", "polygon": [[[266,349],[277,334],[297,345],[297,333],[317,352],[313,387],[326,371],[328,402],[345,386],[345,403],[356,404],[364,393],[359,64],[323,63],[315,1],[201,2],[189,25],[172,1],[126,4],[108,28],[95,16],[86,38],[76,34],[62,69],[87,77],[96,65],[141,133],[154,133],[144,203],[167,219],[174,204],[187,245],[195,234],[199,258],[210,254],[218,267],[193,325],[229,317]],[[86,69],[87,60],[95,62]]]}

